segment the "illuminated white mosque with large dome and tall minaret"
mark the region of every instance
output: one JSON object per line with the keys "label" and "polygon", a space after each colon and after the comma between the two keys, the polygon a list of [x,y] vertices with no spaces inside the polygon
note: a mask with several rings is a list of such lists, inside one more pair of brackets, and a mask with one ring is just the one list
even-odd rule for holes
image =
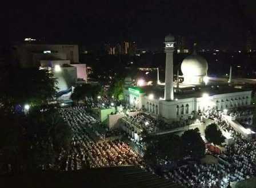
{"label": "illuminated white mosque with large dome and tall minaret", "polygon": [[[206,109],[225,111],[251,104],[252,91],[231,84],[231,70],[228,83],[207,84],[208,63],[196,52],[183,60],[181,64],[183,75],[178,75],[177,82],[174,83],[174,51],[174,36],[167,35],[165,84],[160,84],[158,80],[157,85],[133,87],[129,85],[131,79],[126,78],[123,96],[127,104],[167,121],[190,119],[196,112]],[[182,83],[179,83],[179,77],[183,77]]]}

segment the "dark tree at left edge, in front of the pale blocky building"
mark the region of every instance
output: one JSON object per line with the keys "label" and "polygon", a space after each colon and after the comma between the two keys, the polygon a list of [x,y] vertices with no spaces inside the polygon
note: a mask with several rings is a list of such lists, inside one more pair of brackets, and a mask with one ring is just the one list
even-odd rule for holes
{"label": "dark tree at left edge, in front of the pale blocky building", "polygon": [[40,105],[54,97],[57,81],[53,74],[38,68],[0,67],[0,103]]}

